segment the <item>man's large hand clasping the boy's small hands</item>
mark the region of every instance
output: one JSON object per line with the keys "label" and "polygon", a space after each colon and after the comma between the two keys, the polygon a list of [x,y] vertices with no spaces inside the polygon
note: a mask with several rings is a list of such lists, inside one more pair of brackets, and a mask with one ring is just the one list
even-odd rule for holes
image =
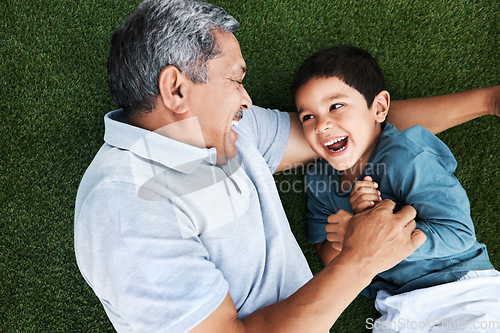
{"label": "man's large hand clasping the boy's small hands", "polygon": [[342,252],[362,263],[367,274],[386,271],[412,254],[427,237],[415,229],[416,211],[385,199],[373,209],[354,215],[347,224]]}

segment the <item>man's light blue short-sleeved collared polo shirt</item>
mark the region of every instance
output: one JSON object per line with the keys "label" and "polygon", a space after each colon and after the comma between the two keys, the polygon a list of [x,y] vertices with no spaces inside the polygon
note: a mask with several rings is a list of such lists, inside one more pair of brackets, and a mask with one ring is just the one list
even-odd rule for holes
{"label": "man's light blue short-sleeved collared polo shirt", "polygon": [[78,266],[119,332],[186,332],[231,295],[242,319],[283,300],[312,274],[272,172],[288,114],[253,107],[236,128],[238,154],[105,116],[105,144],[80,184]]}

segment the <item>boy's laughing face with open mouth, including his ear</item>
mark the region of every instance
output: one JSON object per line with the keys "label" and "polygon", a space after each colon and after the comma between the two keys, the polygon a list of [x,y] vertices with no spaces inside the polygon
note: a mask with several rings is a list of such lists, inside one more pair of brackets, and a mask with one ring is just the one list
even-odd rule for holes
{"label": "boy's laughing face with open mouth, including his ear", "polygon": [[387,91],[368,108],[365,97],[342,80],[313,78],[297,90],[295,101],[309,145],[333,168],[368,162],[389,108]]}

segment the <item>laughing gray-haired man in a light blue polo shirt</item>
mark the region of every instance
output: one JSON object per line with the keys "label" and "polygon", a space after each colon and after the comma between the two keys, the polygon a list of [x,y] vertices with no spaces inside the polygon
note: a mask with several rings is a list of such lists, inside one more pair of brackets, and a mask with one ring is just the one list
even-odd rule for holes
{"label": "laughing gray-haired man in a light blue polo shirt", "polygon": [[425,241],[415,211],[385,201],[352,218],[342,253],[312,277],[272,173],[315,156],[294,115],[252,106],[237,29],[210,4],[150,0],[112,37],[121,109],[78,191],[75,250],[119,332],[326,332]]}

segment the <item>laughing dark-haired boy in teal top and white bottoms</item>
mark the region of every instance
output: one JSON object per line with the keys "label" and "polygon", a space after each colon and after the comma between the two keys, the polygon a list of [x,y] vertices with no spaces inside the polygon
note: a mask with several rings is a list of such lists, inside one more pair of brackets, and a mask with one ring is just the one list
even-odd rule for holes
{"label": "laughing dark-haired boy in teal top and white bottoms", "polygon": [[428,326],[422,331],[456,329],[457,320],[459,331],[477,331],[463,326],[478,321],[497,325],[482,332],[499,330],[500,273],[476,241],[469,201],[453,175],[456,161],[423,127],[399,132],[385,123],[385,89],[376,60],[352,46],[314,54],[295,75],[304,134],[323,158],[306,177],[309,241],[327,263],[341,250],[351,213],[376,209],[382,199],[396,209],[411,205],[427,241],[363,290],[378,294],[383,316],[374,331],[420,332],[415,324],[427,322],[418,325]]}

